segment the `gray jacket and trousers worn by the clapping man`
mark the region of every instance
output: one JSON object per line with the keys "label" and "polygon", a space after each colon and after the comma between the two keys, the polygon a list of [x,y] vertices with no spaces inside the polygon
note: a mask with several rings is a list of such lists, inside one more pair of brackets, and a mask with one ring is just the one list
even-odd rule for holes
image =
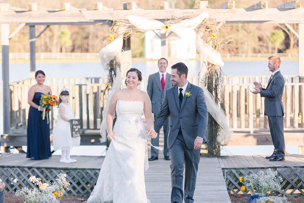
{"label": "gray jacket and trousers worn by the clapping man", "polygon": [[282,103],[284,84],[284,77],[278,71],[272,79],[269,79],[266,89],[262,88],[260,91],[261,97],[265,97],[265,115],[268,116],[272,143],[275,146],[272,155],[283,159],[285,158],[284,107]]}

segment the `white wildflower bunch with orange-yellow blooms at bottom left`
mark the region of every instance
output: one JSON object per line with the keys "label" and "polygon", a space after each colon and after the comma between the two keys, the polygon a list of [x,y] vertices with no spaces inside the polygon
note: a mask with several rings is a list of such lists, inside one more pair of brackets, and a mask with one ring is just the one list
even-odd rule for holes
{"label": "white wildflower bunch with orange-yellow blooms at bottom left", "polygon": [[29,177],[29,181],[34,183],[36,188],[29,189],[23,187],[16,192],[17,197],[21,197],[24,203],[60,203],[60,198],[65,195],[65,190],[69,190],[70,185],[66,182],[66,174],[60,173],[56,182],[42,183],[40,178]]}

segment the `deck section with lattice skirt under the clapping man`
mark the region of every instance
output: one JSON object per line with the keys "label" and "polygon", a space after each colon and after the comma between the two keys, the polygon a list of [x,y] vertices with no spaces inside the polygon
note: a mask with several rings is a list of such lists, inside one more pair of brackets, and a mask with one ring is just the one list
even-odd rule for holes
{"label": "deck section with lattice skirt under the clapping man", "polygon": [[248,176],[250,173],[266,171],[268,168],[277,171],[277,180],[282,178],[279,192],[286,196],[304,195],[304,155],[286,155],[285,161],[269,161],[266,155],[257,156],[225,156],[218,157],[226,179],[228,192],[239,194],[243,183],[239,182],[240,176]]}

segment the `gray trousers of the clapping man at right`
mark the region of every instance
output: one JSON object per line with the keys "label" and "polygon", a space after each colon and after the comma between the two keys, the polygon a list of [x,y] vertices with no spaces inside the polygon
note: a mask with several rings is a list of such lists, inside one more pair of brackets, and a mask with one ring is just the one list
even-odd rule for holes
{"label": "gray trousers of the clapping man at right", "polygon": [[285,159],[285,140],[283,116],[268,116],[272,143],[275,146],[273,155]]}

